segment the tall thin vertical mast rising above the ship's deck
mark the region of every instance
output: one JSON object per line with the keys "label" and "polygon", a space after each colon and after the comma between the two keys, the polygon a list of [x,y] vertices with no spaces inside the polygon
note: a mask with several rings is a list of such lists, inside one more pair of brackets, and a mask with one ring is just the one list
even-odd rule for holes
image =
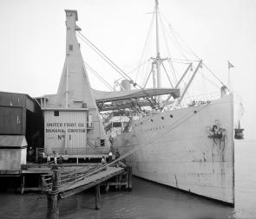
{"label": "tall thin vertical mast rising above the ship's deck", "polygon": [[[158,0],[155,0],[154,6],[155,13],[155,39],[156,39],[156,77],[157,77],[157,88],[161,88],[161,58],[159,48],[159,29],[158,29]],[[161,96],[158,96],[158,101],[161,103]]]}

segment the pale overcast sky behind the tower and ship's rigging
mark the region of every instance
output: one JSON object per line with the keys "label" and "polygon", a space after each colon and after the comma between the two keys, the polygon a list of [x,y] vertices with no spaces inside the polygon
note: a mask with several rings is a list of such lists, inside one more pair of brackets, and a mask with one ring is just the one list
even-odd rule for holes
{"label": "pale overcast sky behind the tower and ship's rigging", "polygon": [[[256,1],[159,0],[161,13],[221,81],[227,60],[240,94],[246,138],[256,138]],[[78,11],[82,34],[122,69],[135,68],[154,0],[0,0],[0,91],[32,97],[56,93],[65,59],[65,9]],[[81,42],[82,44],[82,42]],[[110,84],[120,75],[82,45],[84,61]],[[106,90],[93,76],[92,87]]]}

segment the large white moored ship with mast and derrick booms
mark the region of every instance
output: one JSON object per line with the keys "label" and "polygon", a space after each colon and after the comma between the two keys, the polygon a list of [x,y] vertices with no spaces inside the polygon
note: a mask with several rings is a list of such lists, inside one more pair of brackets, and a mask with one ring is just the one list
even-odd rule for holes
{"label": "large white moored ship with mast and derrick booms", "polygon": [[[158,16],[159,7],[156,0],[156,31],[159,24]],[[168,59],[161,58],[158,41],[159,35],[156,32],[156,56],[151,58],[151,74],[153,87],[160,89],[161,67],[164,68],[162,62]],[[194,70],[190,64],[191,62],[176,85],[172,86],[173,92],[165,101],[166,104],[172,98],[170,107],[164,110],[161,108],[164,103],[161,95],[154,97],[157,102],[155,107],[142,110],[141,113],[135,113],[139,111],[135,107],[132,111],[124,110],[120,104],[112,108],[117,111],[108,115],[105,129],[108,135],[114,138],[113,145],[121,151],[125,158],[123,161],[133,166],[133,174],[136,177],[233,206],[233,93],[220,81],[219,96],[211,100],[191,100],[187,104],[182,104],[195,74],[204,66],[200,59]],[[187,85],[181,89],[181,81],[188,69],[193,74]],[[121,81],[123,82],[126,81]],[[131,90],[124,85],[127,83],[120,84],[121,91]],[[180,93],[174,91],[177,88]],[[138,105],[143,106],[140,103]],[[238,135],[238,129],[235,129],[235,134]]]}

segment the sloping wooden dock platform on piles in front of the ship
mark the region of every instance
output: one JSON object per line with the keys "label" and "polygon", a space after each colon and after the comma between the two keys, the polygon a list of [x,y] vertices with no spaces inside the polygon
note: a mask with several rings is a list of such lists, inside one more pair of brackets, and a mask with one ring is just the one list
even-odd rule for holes
{"label": "sloping wooden dock platform on piles in front of the ship", "polygon": [[[109,181],[109,179],[114,181]],[[48,218],[58,218],[61,199],[95,187],[95,209],[100,209],[100,188],[109,186],[132,190],[132,168],[97,164],[91,168],[53,170],[42,175],[43,191],[48,198]]]}

